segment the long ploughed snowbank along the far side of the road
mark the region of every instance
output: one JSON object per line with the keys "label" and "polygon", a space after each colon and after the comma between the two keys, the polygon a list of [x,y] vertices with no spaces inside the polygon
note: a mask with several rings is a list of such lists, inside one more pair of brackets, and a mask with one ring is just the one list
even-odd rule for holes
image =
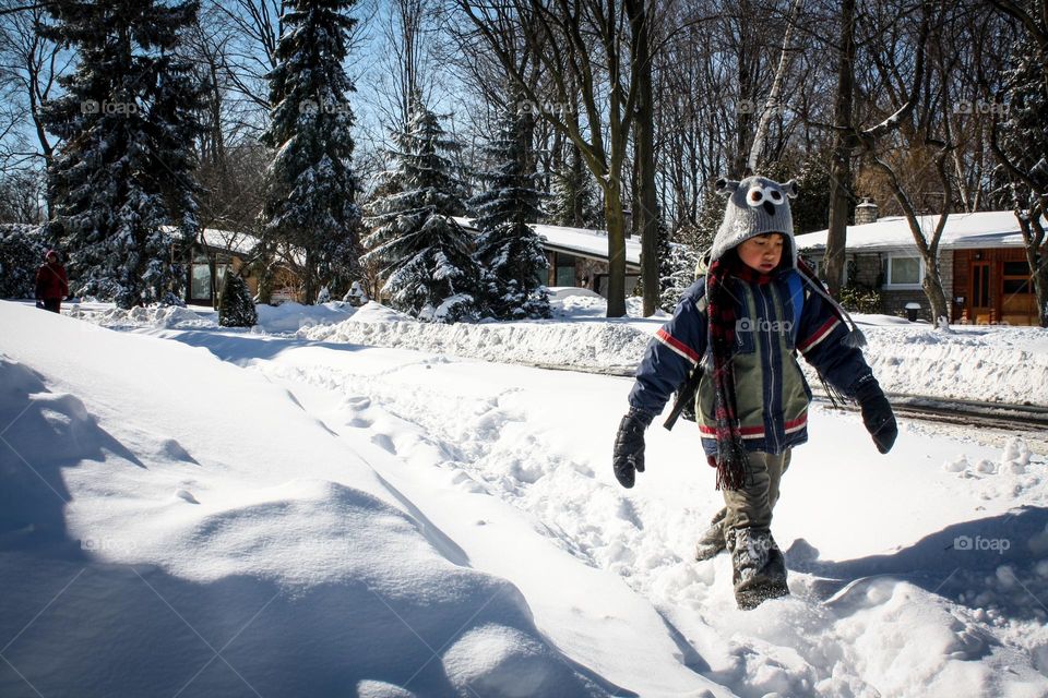
{"label": "long ploughed snowbank along the far side of the road", "polygon": [[[581,288],[551,288],[550,308],[550,321],[442,325],[416,322],[374,301],[361,308],[341,301],[310,306],[284,303],[259,305],[253,332],[631,374],[651,336],[669,318],[662,311],[642,317],[641,299],[631,297],[628,316],[608,320],[606,301]],[[200,309],[121,311],[96,303],[74,305],[67,312],[117,329],[209,328],[217,323],[213,311]],[[853,317],[869,341],[867,361],[889,393],[1048,407],[1048,332],[1044,328],[953,325],[943,330],[888,315]],[[818,390],[815,373],[805,363],[801,368]]]}

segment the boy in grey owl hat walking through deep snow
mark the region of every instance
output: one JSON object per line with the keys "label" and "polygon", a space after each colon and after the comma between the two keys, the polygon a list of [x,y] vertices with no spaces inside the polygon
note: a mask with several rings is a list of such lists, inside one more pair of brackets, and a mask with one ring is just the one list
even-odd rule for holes
{"label": "boy in grey owl hat walking through deep snow", "polygon": [[728,205],[708,268],[638,368],[614,469],[622,486],[633,486],[634,473],[644,471],[644,430],[701,363],[695,414],[725,508],[700,540],[696,558],[729,551],[736,601],[752,609],[789,593],[771,524],[790,450],[808,440],[811,390],[797,352],[825,383],[858,400],[878,450],[888,453],[898,430],[862,358],[862,334],[797,260],[787,201],[796,197],[796,184],[750,177],[722,179],[717,189]]}

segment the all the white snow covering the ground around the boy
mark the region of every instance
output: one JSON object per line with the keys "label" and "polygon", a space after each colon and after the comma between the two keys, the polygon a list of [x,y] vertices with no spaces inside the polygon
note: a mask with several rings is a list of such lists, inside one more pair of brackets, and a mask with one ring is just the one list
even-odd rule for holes
{"label": "all the white snow covering the ground around the boy", "polygon": [[[719,496],[698,434],[650,430],[622,490],[632,381],[505,362],[635,362],[659,321],[553,296],[547,322],[252,330],[0,303],[0,694],[1048,693],[1041,445],[904,419],[880,456],[815,406],[774,525],[793,595],[737,611],[729,561],[690,559]],[[1044,383],[1044,330],[860,320],[958,385],[1005,350]]]}

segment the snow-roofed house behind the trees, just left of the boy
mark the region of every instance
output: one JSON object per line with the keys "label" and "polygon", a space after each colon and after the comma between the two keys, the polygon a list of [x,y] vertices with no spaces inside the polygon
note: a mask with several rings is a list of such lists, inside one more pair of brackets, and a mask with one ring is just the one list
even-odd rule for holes
{"label": "snow-roofed house behind the trees, just left of the boy", "polygon": [[[467,218],[455,218],[473,233],[476,228]],[[564,228],[529,224],[543,239],[549,262],[546,286],[575,286],[608,296],[608,236],[603,230]],[[626,294],[633,292],[641,278],[641,241],[626,240]]]}

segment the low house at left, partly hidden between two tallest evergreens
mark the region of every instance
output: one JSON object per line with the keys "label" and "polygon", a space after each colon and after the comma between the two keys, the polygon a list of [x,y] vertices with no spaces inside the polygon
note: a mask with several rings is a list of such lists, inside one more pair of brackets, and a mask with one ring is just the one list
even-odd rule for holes
{"label": "low house at left, partly hidden between two tallest evergreens", "polygon": [[[250,260],[251,251],[259,239],[245,232],[205,228],[193,244],[192,260],[187,265],[186,303],[190,305],[217,306],[222,282],[228,269],[239,272]],[[259,291],[259,279],[251,270],[243,277],[251,294]],[[298,277],[287,267],[278,265],[274,273],[271,302],[300,301],[301,288]]]}

